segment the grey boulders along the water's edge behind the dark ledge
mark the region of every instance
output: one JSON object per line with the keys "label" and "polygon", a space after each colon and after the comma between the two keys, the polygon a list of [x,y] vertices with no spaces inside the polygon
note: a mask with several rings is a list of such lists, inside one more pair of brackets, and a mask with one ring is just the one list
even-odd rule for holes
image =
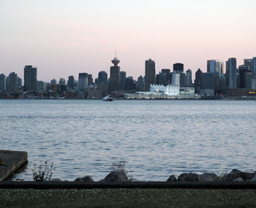
{"label": "grey boulders along the water's edge behind the dark ledge", "polygon": [[[54,178],[51,181],[61,182],[59,178]],[[256,171],[254,173],[244,172],[237,169],[233,169],[228,174],[222,174],[217,176],[214,173],[183,173],[176,177],[171,175],[166,182],[255,182],[256,181]],[[68,181],[65,181],[68,182]],[[74,180],[74,182],[94,182],[92,176],[79,177]],[[111,171],[104,179],[99,182],[146,182],[139,181],[136,178],[128,178],[124,171],[115,170]]]}

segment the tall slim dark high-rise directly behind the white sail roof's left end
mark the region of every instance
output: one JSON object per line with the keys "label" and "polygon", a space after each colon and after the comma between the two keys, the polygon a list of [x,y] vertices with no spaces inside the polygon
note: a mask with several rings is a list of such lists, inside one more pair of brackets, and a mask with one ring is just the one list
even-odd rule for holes
{"label": "tall slim dark high-rise directly behind the white sail roof's left end", "polygon": [[150,90],[150,84],[156,83],[155,61],[152,59],[145,62],[145,91]]}

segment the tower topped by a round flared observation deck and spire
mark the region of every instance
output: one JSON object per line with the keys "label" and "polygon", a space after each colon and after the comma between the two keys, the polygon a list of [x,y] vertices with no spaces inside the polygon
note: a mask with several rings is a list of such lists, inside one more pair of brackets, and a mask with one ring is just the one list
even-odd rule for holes
{"label": "tower topped by a round flared observation deck and spire", "polygon": [[110,89],[118,90],[121,88],[120,67],[118,66],[120,60],[115,57],[112,63],[114,66],[110,67]]}

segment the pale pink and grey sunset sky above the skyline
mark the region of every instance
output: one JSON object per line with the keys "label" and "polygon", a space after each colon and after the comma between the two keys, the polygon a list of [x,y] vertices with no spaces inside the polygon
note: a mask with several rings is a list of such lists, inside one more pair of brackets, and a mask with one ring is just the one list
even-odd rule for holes
{"label": "pale pink and grey sunset sky above the skyline", "polygon": [[38,68],[38,80],[86,72],[109,76],[121,60],[127,76],[156,73],[176,62],[206,71],[206,60],[256,56],[255,0],[0,0],[0,74]]}

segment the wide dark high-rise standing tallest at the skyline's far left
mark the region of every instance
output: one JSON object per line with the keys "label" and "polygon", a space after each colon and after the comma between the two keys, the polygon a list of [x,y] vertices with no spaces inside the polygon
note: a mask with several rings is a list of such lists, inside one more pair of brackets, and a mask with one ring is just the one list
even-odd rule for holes
{"label": "wide dark high-rise standing tallest at the skyline's far left", "polygon": [[37,67],[24,67],[24,91],[37,91]]}

